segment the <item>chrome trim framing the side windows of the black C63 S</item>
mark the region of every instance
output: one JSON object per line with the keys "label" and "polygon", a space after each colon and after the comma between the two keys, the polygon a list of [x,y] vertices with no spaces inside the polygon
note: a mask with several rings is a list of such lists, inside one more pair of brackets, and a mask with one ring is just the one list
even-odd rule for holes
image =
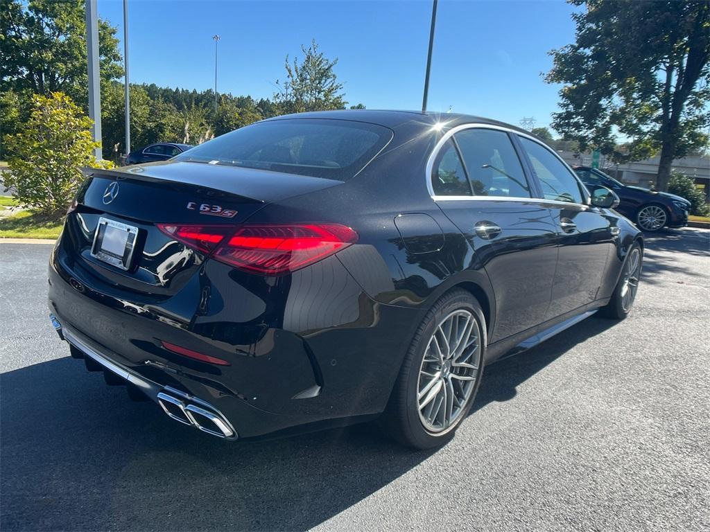
{"label": "chrome trim framing the side windows of the black C63 S", "polygon": [[[545,199],[545,198],[530,198],[530,197],[518,197],[518,196],[437,196],[437,194],[434,193],[434,187],[432,187],[432,171],[434,170],[434,162],[437,158],[437,155],[439,155],[439,151],[444,147],[444,144],[447,143],[447,140],[449,138],[452,138],[456,133],[459,133],[459,131],[464,131],[466,129],[493,129],[495,131],[503,131],[505,133],[512,133],[513,135],[520,135],[521,137],[528,138],[532,140],[533,142],[540,144],[543,148],[545,148],[547,151],[555,155],[557,159],[562,161],[562,164],[564,165],[569,172],[572,172],[572,176],[574,176],[574,179],[577,179],[577,182],[579,183],[579,177],[577,177],[577,174],[574,173],[574,170],[567,164],[567,162],[564,162],[564,159],[560,157],[557,153],[555,153],[554,150],[550,150],[544,143],[542,143],[540,140],[535,138],[532,135],[528,135],[527,133],[521,133],[520,131],[515,131],[514,129],[510,128],[505,128],[503,126],[496,126],[494,124],[487,124],[487,123],[464,123],[460,124],[459,126],[456,126],[454,128],[449,129],[444,135],[442,135],[442,138],[439,138],[439,141],[436,143],[434,146],[434,149],[432,150],[432,153],[430,153],[429,158],[427,159],[427,166],[425,170],[425,182],[427,184],[427,190],[429,191],[429,195],[432,197],[434,201],[486,201],[486,200],[493,200],[493,201],[532,201],[533,203],[549,203],[549,204],[555,204],[555,205],[566,205],[566,206],[577,206],[577,207],[583,207],[584,209],[587,209],[589,205],[586,204],[579,204],[579,203],[573,203],[572,201],[559,201],[556,199]],[[522,162],[522,161],[521,161]],[[584,196],[584,189],[580,189],[579,192],[581,192],[582,196]],[[589,196],[585,197],[587,201],[589,201]]]}

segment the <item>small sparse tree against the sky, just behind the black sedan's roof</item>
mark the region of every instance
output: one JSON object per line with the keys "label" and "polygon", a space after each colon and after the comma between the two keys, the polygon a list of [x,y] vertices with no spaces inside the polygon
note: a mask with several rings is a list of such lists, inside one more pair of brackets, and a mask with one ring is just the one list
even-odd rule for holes
{"label": "small sparse tree against the sky, just behind the black sedan's roof", "polygon": [[301,46],[302,62],[296,57],[293,65],[286,56],[286,80],[276,80],[279,92],[273,95],[281,113],[303,113],[305,111],[329,111],[344,109],[347,104],[342,94],[343,84],[337,81],[333,71],[337,58],[329,60],[318,51],[315,39],[310,47]]}

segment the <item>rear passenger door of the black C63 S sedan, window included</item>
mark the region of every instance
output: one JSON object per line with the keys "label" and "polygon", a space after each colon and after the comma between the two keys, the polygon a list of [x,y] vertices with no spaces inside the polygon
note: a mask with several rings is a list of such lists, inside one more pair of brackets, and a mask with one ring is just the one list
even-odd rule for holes
{"label": "rear passenger door of the black C63 S sedan, window included", "polygon": [[557,232],[550,210],[534,199],[506,131],[470,126],[457,131],[432,167],[439,207],[466,235],[496,297],[491,343],[537,326],[550,306]]}

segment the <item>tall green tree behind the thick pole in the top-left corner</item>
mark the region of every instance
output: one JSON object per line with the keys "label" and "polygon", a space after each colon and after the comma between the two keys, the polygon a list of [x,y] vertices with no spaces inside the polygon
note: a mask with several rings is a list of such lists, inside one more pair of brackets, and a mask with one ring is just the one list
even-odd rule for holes
{"label": "tall green tree behind the thick pole in the top-left corner", "polygon": [[[102,80],[123,75],[116,28],[99,20]],[[0,0],[0,89],[65,92],[87,105],[86,18],[82,0]]]}

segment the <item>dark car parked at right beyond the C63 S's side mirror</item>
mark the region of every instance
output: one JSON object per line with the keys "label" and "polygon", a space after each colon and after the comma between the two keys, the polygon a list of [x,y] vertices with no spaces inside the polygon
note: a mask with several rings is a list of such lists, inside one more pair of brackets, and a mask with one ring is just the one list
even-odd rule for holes
{"label": "dark car parked at right beyond the C63 S's side mirror", "polygon": [[623,184],[597,168],[579,166],[574,168],[574,172],[587,186],[601,185],[613,190],[620,200],[616,210],[633,220],[643,231],[688,225],[690,201],[681,196]]}

